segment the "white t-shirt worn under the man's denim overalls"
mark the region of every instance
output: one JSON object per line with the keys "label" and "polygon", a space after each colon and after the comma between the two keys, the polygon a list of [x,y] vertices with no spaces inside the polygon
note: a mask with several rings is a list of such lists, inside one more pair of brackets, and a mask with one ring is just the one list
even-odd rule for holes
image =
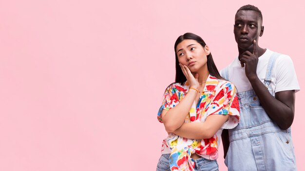
{"label": "white t-shirt worn under the man's denim overalls", "polygon": [[[267,51],[258,58],[256,73],[263,83],[266,77],[267,65],[272,53],[273,51],[267,49]],[[229,70],[229,81],[236,86],[238,92],[253,89],[245,74],[245,67],[241,67],[238,57],[235,58],[227,68]],[[220,71],[221,75],[224,75],[222,73],[223,70]],[[269,86],[271,86],[273,90],[273,95],[279,91],[296,90],[297,92],[300,90],[293,62],[288,55],[281,54],[275,61]]]}

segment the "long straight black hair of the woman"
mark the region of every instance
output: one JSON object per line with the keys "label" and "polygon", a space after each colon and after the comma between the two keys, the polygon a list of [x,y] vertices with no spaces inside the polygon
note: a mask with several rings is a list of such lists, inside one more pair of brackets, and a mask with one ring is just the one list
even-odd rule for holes
{"label": "long straight black hair of the woman", "polygon": [[[183,34],[183,35],[180,35],[176,42],[175,42],[175,45],[174,45],[174,50],[175,50],[175,59],[176,59],[176,78],[175,78],[175,83],[180,83],[180,84],[183,84],[184,82],[187,81],[187,78],[185,77],[185,75],[183,74],[182,72],[182,69],[180,68],[179,66],[179,61],[178,61],[178,56],[177,56],[177,52],[176,52],[176,48],[177,48],[177,45],[179,43],[181,43],[183,40],[185,39],[192,39],[192,40],[196,40],[203,48],[206,46],[206,43],[203,41],[203,39],[196,35],[196,34],[192,34],[192,33],[186,33],[186,34]],[[219,72],[218,72],[218,69],[213,61],[213,58],[212,58],[212,54],[210,53],[208,56],[208,61],[207,61],[207,65],[208,65],[208,70],[210,72],[210,75],[211,76],[214,76],[218,79],[221,79],[221,80],[225,80],[222,76],[220,76]]]}

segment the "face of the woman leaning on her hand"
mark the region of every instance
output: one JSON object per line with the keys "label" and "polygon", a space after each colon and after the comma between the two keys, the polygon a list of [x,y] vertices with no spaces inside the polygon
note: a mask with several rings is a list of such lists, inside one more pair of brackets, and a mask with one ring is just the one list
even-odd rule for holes
{"label": "face of the woman leaning on her hand", "polygon": [[202,47],[196,40],[185,39],[177,45],[176,53],[180,64],[186,65],[191,72],[197,72],[207,67],[210,50],[208,46]]}

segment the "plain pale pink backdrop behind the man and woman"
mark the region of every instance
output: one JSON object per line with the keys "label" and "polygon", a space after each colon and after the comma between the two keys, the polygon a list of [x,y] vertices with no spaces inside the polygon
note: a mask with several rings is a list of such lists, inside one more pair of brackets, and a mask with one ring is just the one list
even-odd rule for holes
{"label": "plain pale pink backdrop behind the man and woman", "polygon": [[[237,55],[235,12],[252,2],[1,0],[0,170],[154,171],[175,39],[202,36],[224,68]],[[290,55],[303,88],[304,2],[254,5],[265,25],[259,45]],[[292,125],[300,171],[304,92]]]}

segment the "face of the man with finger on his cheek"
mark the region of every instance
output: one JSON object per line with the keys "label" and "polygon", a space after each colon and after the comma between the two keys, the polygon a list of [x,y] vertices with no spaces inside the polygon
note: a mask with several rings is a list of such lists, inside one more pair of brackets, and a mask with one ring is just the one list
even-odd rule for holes
{"label": "face of the man with finger on his cheek", "polygon": [[235,15],[234,35],[235,41],[239,49],[251,50],[253,48],[253,40],[258,41],[258,37],[262,36],[264,26],[262,19],[256,11],[241,10]]}

